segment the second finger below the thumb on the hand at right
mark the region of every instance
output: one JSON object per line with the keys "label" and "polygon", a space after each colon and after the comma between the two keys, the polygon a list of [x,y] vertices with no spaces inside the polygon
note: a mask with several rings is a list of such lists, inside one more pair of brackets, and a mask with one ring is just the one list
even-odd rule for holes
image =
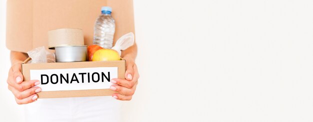
{"label": "second finger below the thumb on the hand at right", "polygon": [[133,95],[136,90],[136,85],[137,82],[135,82],[132,88],[127,88],[120,85],[111,85],[110,89],[123,95]]}

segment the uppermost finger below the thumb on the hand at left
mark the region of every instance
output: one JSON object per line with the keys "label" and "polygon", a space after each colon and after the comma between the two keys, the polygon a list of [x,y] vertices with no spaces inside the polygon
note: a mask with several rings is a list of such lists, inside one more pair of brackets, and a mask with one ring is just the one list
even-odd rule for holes
{"label": "uppermost finger below the thumb on the hand at left", "polygon": [[8,84],[18,91],[24,91],[25,89],[38,85],[39,83],[40,83],[39,80],[23,81],[20,84],[8,81]]}

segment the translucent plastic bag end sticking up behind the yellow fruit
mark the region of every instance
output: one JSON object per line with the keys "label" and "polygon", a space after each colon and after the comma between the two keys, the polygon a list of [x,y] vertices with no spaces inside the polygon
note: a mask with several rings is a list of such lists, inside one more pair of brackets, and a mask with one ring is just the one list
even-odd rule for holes
{"label": "translucent plastic bag end sticking up behind the yellow fruit", "polygon": [[132,46],[133,42],[134,42],[134,34],[132,32],[129,32],[127,34],[124,34],[120,38],[118,38],[115,45],[111,49],[116,50],[120,55],[121,50],[125,50],[129,46]]}

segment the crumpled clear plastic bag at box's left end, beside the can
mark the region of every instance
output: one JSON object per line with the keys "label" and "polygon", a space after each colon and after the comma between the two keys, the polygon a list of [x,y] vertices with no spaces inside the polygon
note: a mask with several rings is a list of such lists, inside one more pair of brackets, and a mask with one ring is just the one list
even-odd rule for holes
{"label": "crumpled clear plastic bag at box's left end, beside the can", "polygon": [[55,62],[55,55],[47,50],[44,46],[34,48],[27,52],[31,60],[28,63],[44,63],[44,62]]}

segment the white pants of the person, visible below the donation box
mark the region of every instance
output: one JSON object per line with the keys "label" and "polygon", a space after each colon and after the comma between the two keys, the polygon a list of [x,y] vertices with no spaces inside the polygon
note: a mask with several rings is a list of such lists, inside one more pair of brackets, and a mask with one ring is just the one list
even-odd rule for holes
{"label": "white pants of the person, visible below the donation box", "polygon": [[119,121],[120,101],[111,96],[42,98],[25,105],[28,122]]}

